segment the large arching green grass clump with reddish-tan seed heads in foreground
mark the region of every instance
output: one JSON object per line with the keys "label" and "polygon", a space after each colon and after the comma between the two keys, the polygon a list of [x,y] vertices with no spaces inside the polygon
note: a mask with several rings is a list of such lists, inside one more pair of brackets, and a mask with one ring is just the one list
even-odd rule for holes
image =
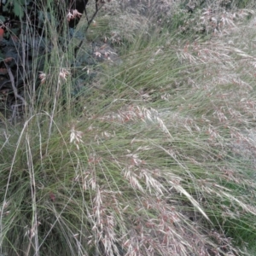
{"label": "large arching green grass clump with reddish-tan seed heads in foreground", "polygon": [[1,253],[255,254],[253,22],[141,32],[119,66],[53,44],[24,122],[2,118]]}

